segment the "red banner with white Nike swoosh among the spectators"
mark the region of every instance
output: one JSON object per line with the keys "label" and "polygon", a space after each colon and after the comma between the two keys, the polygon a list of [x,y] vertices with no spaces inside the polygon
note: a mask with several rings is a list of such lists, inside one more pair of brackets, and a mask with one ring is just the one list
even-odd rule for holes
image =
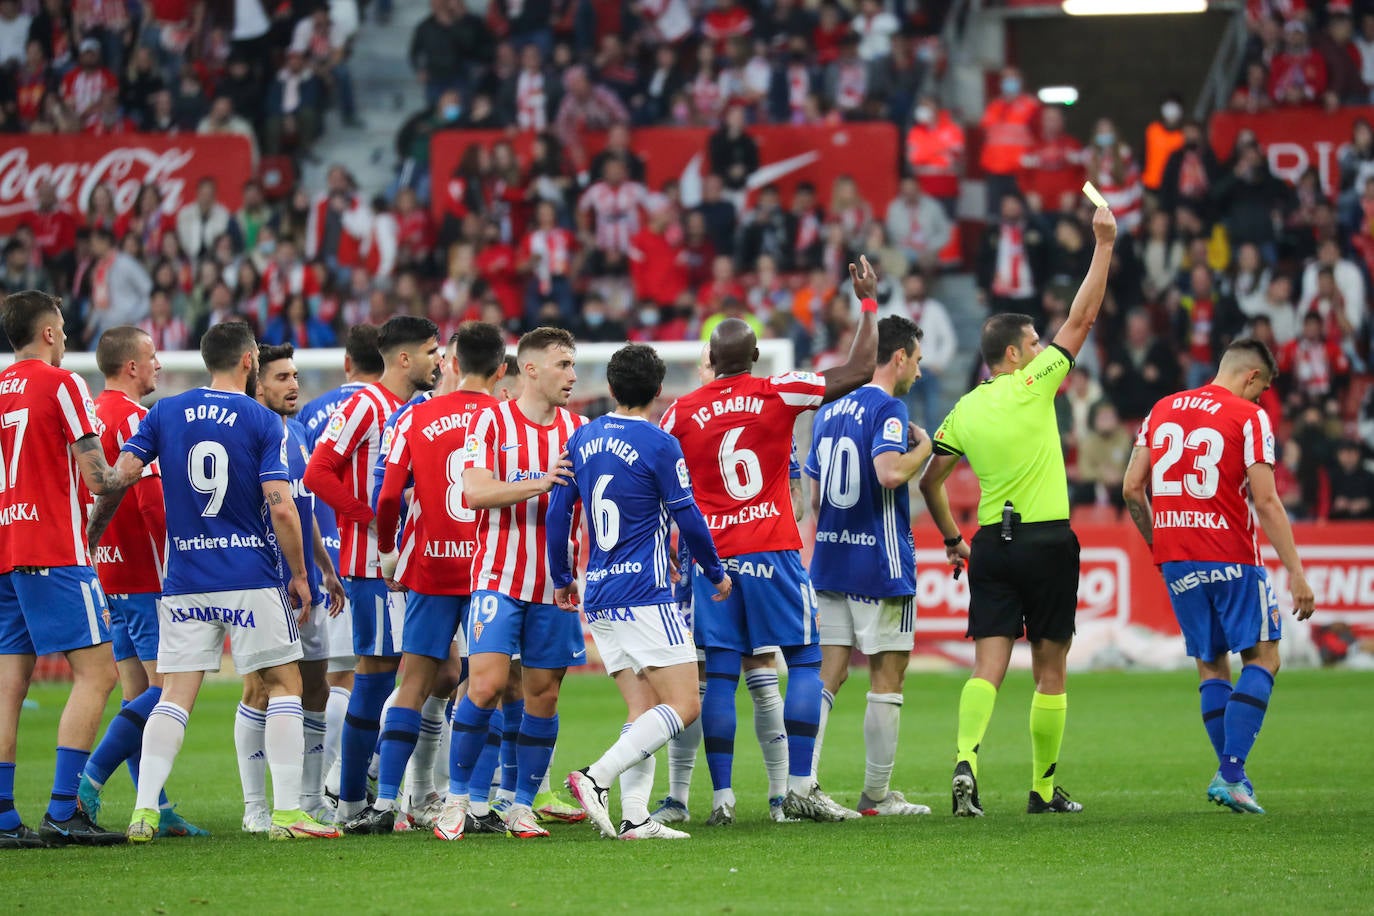
{"label": "red banner with white Nike swoosh among the spectators", "polygon": [[[749,177],[749,190],[776,184],[783,203],[791,198],[798,181],[811,181],[822,206],[830,202],[830,185],[848,174],[859,194],[882,213],[897,195],[897,129],[890,124],[845,124],[834,128],[769,125],[749,128],[758,143],[758,170]],[[701,199],[702,177],[710,174],[706,141],[708,128],[643,128],[631,133],[629,146],[644,161],[646,184],[658,191],[665,181],[676,180],[683,203],[694,206]],[[442,130],[430,140],[430,176],[436,217],[449,207],[449,177],[474,143],[491,148],[510,140],[515,155],[528,161],[533,135],[506,130]],[[585,137],[587,154],[596,155],[606,144],[605,135]],[[595,177],[595,176],[594,176]]]}

